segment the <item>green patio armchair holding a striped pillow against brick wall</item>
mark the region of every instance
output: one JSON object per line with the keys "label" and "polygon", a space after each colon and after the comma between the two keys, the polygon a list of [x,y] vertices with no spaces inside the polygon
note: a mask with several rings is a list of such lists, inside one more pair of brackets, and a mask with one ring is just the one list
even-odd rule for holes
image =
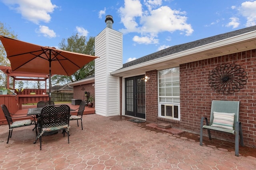
{"label": "green patio armchair holding a striped pillow against brick wall", "polygon": [[[235,155],[239,156],[239,136],[240,145],[244,146],[242,125],[239,121],[239,101],[213,100],[211,107],[210,123],[206,117],[201,118],[200,124],[200,145],[203,142],[203,129],[207,129],[209,139],[211,130],[231,133],[235,135]],[[204,125],[204,119],[206,125]]]}

